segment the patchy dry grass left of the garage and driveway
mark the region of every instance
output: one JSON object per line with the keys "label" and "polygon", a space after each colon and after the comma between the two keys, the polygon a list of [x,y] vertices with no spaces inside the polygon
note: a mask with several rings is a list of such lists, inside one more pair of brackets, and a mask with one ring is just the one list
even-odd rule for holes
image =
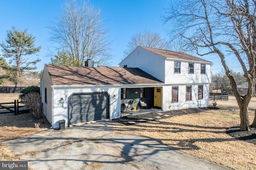
{"label": "patchy dry grass left of the garage and driveway", "polygon": [[[0,94],[0,103],[13,102],[17,100],[19,93]],[[40,122],[40,127],[48,128],[50,124],[46,119],[36,119],[32,113],[24,113],[14,115],[13,113],[0,114],[0,161],[2,160],[19,160],[20,155],[15,155],[6,145],[2,144],[3,141],[18,139],[42,133],[38,128],[33,128],[34,123]],[[36,153],[25,152],[29,156],[35,156]]]}

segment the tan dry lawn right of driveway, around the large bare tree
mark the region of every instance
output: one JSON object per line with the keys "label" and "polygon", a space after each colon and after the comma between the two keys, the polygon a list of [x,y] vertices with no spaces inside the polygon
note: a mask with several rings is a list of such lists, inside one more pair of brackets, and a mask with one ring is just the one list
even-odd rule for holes
{"label": "tan dry lawn right of driveway, around the large bare tree", "polygon": [[[256,98],[253,98],[249,105],[250,121],[254,118],[255,101]],[[240,124],[236,100],[230,97],[229,101],[217,101],[217,107],[220,109],[128,126],[123,133],[150,137],[228,168],[255,170],[256,145],[226,134],[227,128]]]}

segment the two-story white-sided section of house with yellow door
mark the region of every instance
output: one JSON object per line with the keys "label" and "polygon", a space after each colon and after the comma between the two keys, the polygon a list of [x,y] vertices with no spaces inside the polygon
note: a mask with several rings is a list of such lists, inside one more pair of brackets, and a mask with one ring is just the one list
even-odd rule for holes
{"label": "two-story white-sided section of house with yellow door", "polygon": [[154,87],[154,107],[163,110],[207,107],[212,64],[186,53],[140,46],[119,63],[164,82]]}

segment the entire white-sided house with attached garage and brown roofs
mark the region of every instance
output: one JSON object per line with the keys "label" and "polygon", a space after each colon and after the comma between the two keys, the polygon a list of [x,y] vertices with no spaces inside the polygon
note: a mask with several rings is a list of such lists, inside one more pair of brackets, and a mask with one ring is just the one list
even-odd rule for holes
{"label": "entire white-sided house with attached garage and brown roofs", "polygon": [[146,47],[134,49],[120,67],[46,64],[40,85],[44,114],[57,127],[63,119],[66,126],[115,119],[131,111],[126,106],[142,110],[143,103],[148,110],[207,107],[211,64]]}

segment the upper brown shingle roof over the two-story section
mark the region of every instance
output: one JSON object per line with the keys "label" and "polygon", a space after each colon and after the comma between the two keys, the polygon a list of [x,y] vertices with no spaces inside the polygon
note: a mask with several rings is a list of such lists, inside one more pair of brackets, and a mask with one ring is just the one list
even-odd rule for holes
{"label": "upper brown shingle roof over the two-story section", "polygon": [[200,61],[200,62],[212,63],[210,61],[195,57],[193,55],[182,53],[182,52],[167,50],[167,53],[166,53],[166,50],[163,50],[163,49],[153,49],[153,48],[148,48],[148,47],[141,47],[141,48],[147,49],[148,51],[152,51],[153,53],[162,55],[162,56],[164,56],[166,58],[170,58],[170,59],[182,59],[182,60],[188,60],[188,61]]}

